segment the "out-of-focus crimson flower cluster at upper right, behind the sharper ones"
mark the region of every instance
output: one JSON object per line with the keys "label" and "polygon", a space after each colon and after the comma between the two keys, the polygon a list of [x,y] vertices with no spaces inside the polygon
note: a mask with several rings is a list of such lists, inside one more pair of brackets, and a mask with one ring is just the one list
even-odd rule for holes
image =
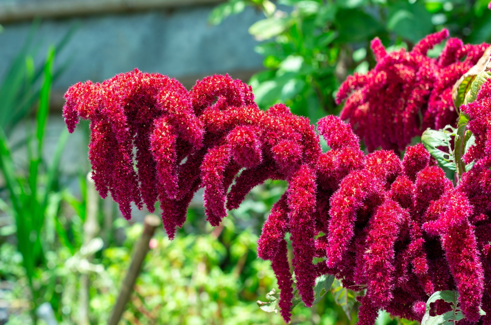
{"label": "out-of-focus crimson flower cluster at upper right, behind the sharper ones", "polygon": [[337,103],[347,98],[341,118],[348,120],[369,152],[378,147],[404,150],[427,128],[457,123],[452,87],[483,55],[487,44],[466,44],[449,38],[439,57],[428,51],[448,37],[446,29],[428,35],[410,52],[387,53],[375,38],[377,65],[367,74],[349,76],[339,88]]}

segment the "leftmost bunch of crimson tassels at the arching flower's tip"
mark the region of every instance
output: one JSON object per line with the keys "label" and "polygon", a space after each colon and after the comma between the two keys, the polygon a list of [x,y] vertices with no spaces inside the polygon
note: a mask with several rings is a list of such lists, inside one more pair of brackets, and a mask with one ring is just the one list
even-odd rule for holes
{"label": "leftmost bunch of crimson tassels at the arching flower's tip", "polygon": [[131,218],[132,202],[141,209],[143,201],[153,212],[157,197],[176,194],[177,158],[184,159],[203,139],[188,92],[178,81],[135,69],[102,83],[77,83],[65,99],[70,132],[79,118],[91,121],[92,178],[103,198],[110,191],[125,218]]}

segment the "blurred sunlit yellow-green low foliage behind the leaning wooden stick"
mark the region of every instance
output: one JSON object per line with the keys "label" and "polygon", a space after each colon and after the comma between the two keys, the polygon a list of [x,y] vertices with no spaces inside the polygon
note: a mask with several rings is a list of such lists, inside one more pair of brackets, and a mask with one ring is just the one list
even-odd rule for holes
{"label": "blurred sunlit yellow-green low foliage behind the leaning wooden stick", "polygon": [[[276,279],[270,262],[256,256],[254,222],[238,219],[248,214],[257,218],[260,227],[282,190],[284,184],[280,182],[254,189],[242,210],[232,213],[217,228],[204,223],[202,207],[195,207],[190,209],[188,227],[173,241],[159,229],[122,324],[284,324],[279,314],[266,313],[256,304],[277,288]],[[255,204],[259,197],[264,198],[264,204]],[[63,204],[62,211],[67,216],[74,213]],[[60,324],[78,323],[81,273],[90,275],[90,322],[106,324],[142,225],[119,217],[111,230],[123,233],[125,239],[118,242],[114,238],[109,246],[98,246],[90,262],[81,262],[81,250],[72,254],[65,245],[47,254],[49,263],[40,270],[40,279],[56,279],[53,290],[59,300],[52,304]],[[78,231],[78,236],[83,236],[82,227]],[[0,246],[0,276],[4,279],[0,287],[9,288],[4,290],[4,299],[17,308],[10,316],[11,325],[29,323],[29,290],[21,266],[22,255],[15,253],[14,246]],[[292,324],[354,324],[355,310],[350,321],[343,307],[334,303],[334,296],[326,297],[314,308],[295,308]]]}

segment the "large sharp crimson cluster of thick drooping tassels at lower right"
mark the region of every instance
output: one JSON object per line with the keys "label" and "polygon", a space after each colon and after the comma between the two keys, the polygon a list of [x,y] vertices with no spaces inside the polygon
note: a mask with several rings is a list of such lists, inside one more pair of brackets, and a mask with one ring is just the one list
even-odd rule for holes
{"label": "large sharp crimson cluster of thick drooping tassels at lower right", "polygon": [[[335,119],[321,120],[320,131]],[[323,134],[328,143],[329,134],[345,135],[334,150],[357,148],[339,120],[330,125]],[[336,186],[329,207],[318,211],[325,235],[315,246],[316,257],[326,257],[321,269],[347,288],[366,289],[359,299],[359,324],[373,325],[379,309],[421,321],[426,300],[439,290],[458,290],[466,319],[478,321],[488,292],[482,241],[474,232],[483,217],[476,218],[465,190],[453,188],[421,144],[408,147],[402,161],[393,151],[379,150],[352,155],[350,162],[356,165],[347,175],[330,183]],[[317,172],[321,175],[319,167]]]}

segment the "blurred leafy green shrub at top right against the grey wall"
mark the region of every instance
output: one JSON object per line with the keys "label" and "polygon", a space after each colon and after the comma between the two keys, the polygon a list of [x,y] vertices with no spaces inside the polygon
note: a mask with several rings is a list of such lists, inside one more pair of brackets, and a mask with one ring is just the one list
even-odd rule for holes
{"label": "blurred leafy green shrub at top right against the grey wall", "polygon": [[[375,64],[370,41],[378,36],[391,49],[410,48],[445,27],[465,42],[491,40],[487,0],[229,0],[210,23],[219,24],[247,6],[265,19],[249,28],[260,41],[266,70],[250,84],[261,108],[285,103],[296,114],[317,121],[337,114],[333,96],[346,76]],[[433,54],[441,51],[437,47]],[[390,50],[390,49],[389,49]]]}

